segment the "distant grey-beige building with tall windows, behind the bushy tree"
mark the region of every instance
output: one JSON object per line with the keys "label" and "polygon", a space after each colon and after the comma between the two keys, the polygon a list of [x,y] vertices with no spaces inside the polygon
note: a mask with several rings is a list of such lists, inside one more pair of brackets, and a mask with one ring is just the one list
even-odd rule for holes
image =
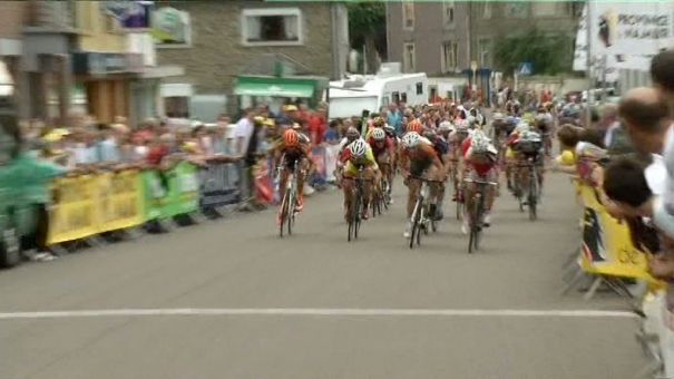
{"label": "distant grey-beige building with tall windows, behind the bushy tree", "polygon": [[[470,71],[471,66],[498,71],[502,65],[494,51],[499,38],[537,27],[573,41],[582,8],[573,1],[387,2],[389,60],[429,76]],[[570,42],[568,50],[573,55]]]}

